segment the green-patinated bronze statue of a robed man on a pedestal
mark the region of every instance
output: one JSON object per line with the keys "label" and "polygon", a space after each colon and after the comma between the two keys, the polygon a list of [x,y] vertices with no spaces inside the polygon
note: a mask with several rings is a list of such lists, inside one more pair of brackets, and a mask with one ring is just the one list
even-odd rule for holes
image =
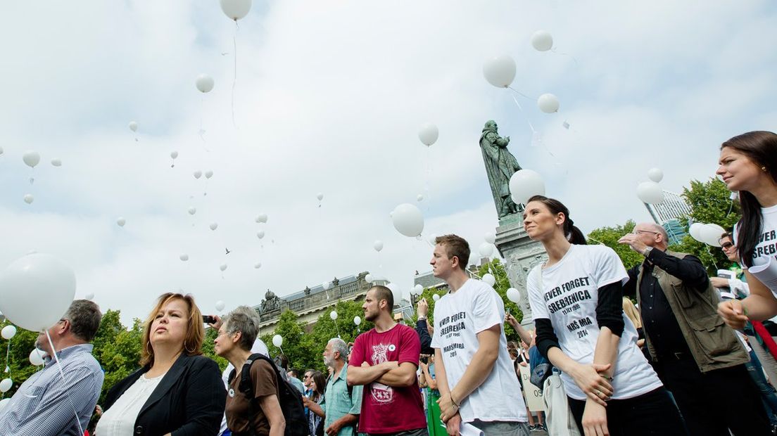
{"label": "green-patinated bronze statue of a robed man on a pedestal", "polygon": [[510,144],[510,137],[500,137],[497,123],[487,121],[480,135],[480,150],[483,152],[483,163],[486,164],[486,174],[500,220],[523,210],[510,198],[510,177],[521,169],[521,165],[507,150],[507,144]]}

